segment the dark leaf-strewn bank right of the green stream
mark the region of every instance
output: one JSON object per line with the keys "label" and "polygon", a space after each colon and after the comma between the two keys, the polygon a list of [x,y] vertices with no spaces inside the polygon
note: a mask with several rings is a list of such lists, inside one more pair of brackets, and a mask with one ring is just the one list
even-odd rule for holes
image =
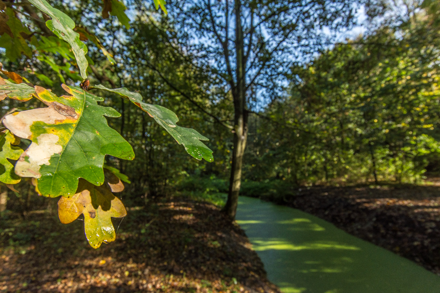
{"label": "dark leaf-strewn bank right of the green stream", "polygon": [[440,178],[424,185],[299,188],[286,205],[440,275]]}

